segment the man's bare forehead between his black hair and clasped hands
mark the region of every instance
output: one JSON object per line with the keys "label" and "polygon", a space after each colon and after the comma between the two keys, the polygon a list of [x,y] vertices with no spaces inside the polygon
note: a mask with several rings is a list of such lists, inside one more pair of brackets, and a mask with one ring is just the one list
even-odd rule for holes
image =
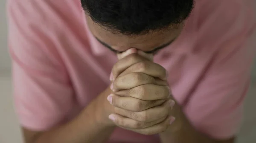
{"label": "man's bare forehead between his black hair and clasped hands", "polygon": [[87,19],[88,27],[94,36],[102,42],[110,45],[113,49],[118,51],[125,51],[129,48],[137,48],[143,51],[150,51],[160,45],[176,39],[181,33],[183,24],[175,28],[166,29],[163,31],[152,31],[143,35],[128,36],[124,34],[114,33],[100,25]]}

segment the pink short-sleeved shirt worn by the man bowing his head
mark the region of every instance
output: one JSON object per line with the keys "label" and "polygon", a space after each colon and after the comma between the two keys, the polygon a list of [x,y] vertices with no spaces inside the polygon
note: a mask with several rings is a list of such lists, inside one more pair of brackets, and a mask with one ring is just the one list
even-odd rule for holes
{"label": "pink short-sleeved shirt worn by the man bowing his head", "polygon": [[[154,57],[195,129],[218,139],[235,135],[241,123],[256,49],[252,6],[195,0],[182,34]],[[108,86],[116,55],[91,35],[80,0],[8,0],[7,8],[20,124],[43,131],[70,121]],[[159,141],[120,128],[110,140]]]}

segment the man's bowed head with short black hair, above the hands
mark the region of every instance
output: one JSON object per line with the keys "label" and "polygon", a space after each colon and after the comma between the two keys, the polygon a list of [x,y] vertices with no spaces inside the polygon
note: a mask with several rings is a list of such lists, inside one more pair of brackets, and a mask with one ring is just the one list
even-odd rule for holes
{"label": "man's bowed head with short black hair, above the hands", "polygon": [[81,0],[92,34],[119,53],[137,48],[153,53],[183,29],[193,0]]}

